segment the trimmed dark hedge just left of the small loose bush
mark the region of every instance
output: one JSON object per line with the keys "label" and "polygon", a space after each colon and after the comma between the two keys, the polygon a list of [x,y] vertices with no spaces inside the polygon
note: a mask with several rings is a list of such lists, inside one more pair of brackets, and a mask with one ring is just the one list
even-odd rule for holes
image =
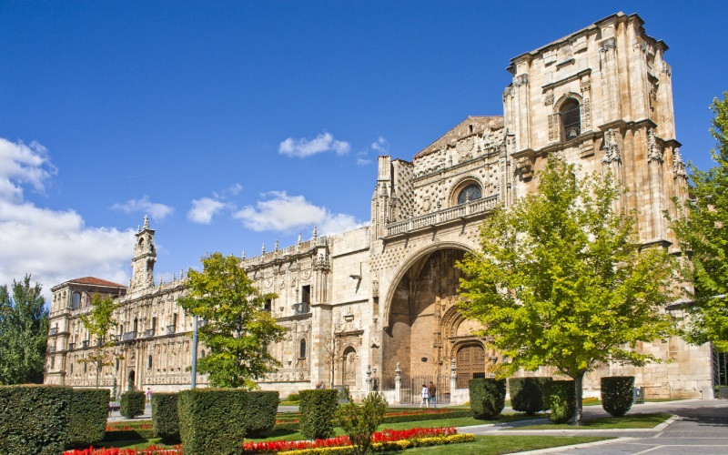
{"label": "trimmed dark hedge just left of the small loose bush", "polygon": [[300,430],[308,440],[325,440],[334,435],[334,414],[339,409],[337,389],[301,390]]}

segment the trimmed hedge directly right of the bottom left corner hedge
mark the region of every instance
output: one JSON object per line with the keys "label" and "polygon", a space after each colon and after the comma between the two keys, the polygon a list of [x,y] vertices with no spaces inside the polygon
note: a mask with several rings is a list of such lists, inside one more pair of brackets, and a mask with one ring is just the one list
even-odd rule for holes
{"label": "trimmed hedge directly right of the bottom left corner hedge", "polygon": [[104,439],[108,419],[108,389],[74,389],[67,447],[87,447]]}

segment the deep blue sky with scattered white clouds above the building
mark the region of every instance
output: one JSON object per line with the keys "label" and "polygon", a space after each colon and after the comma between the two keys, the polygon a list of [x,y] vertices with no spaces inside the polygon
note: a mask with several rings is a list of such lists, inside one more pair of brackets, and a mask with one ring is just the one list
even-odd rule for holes
{"label": "deep blue sky with scattered white clouds above the building", "polygon": [[0,2],[0,284],[157,280],[369,221],[376,157],[501,115],[510,58],[617,11],[672,65],[710,167],[728,2]]}

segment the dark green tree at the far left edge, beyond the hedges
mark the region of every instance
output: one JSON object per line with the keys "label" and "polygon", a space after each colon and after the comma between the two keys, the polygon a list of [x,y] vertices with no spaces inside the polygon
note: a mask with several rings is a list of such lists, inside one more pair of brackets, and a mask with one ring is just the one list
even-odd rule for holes
{"label": "dark green tree at the far left edge, beyond the hedges", "polygon": [[48,309],[30,275],[13,280],[13,296],[0,286],[0,384],[42,383]]}

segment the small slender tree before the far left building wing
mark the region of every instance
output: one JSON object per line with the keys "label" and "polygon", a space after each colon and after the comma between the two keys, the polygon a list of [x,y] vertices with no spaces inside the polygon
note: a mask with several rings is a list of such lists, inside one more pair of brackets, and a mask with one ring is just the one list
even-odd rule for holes
{"label": "small slender tree before the far left building wing", "polygon": [[114,319],[116,308],[119,308],[119,304],[112,298],[100,298],[94,295],[91,298],[91,311],[80,316],[81,324],[88,330],[89,337],[94,340],[94,349],[91,354],[79,361],[96,365],[96,389],[101,378],[101,369],[113,365],[114,359],[121,358],[114,354],[116,339],[109,336],[111,329],[116,327]]}

